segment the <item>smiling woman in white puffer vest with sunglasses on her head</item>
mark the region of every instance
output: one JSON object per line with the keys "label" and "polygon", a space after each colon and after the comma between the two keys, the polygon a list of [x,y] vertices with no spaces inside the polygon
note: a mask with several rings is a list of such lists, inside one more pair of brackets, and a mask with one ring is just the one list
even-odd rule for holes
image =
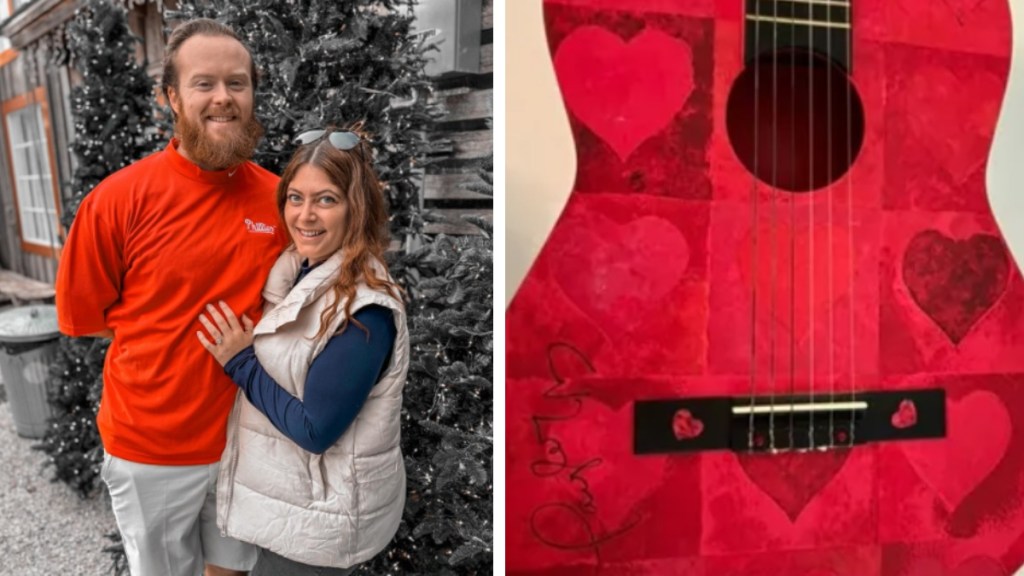
{"label": "smiling woman in white puffer vest with sunglasses on her head", "polygon": [[278,187],[293,245],[266,281],[263,318],[213,302],[198,334],[240,387],[217,524],[259,546],[252,576],[349,574],[390,542],[406,500],[409,331],[372,150],[355,131],[298,140]]}

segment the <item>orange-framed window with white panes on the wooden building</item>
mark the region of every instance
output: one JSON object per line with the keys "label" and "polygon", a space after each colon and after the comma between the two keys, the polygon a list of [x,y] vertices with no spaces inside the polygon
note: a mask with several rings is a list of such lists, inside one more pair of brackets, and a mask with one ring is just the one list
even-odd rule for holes
{"label": "orange-framed window with white panes on the wooden building", "polygon": [[45,91],[12,98],[3,112],[23,247],[49,255],[60,244],[60,222]]}

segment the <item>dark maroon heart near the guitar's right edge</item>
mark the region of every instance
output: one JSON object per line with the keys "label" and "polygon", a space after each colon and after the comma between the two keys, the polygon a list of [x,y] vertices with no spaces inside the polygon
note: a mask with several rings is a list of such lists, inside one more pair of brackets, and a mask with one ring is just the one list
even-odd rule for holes
{"label": "dark maroon heart near the guitar's right edge", "polygon": [[926,230],[903,254],[903,282],[910,296],[953,344],[995,304],[1009,279],[1007,250],[987,234],[953,240]]}

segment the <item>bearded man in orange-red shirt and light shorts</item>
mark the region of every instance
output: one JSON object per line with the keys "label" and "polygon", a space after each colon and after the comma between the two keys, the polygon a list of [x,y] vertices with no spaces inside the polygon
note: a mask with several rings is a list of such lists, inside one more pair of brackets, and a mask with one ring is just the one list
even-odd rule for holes
{"label": "bearded man in orange-red shirt and light shorts", "polygon": [[252,157],[249,49],[209,19],[168,40],[167,148],[82,202],[57,271],[61,332],[112,337],[96,417],[133,576],[242,575],[255,549],[221,536],[215,487],[237,387],[197,343],[207,305],[261,315],[263,280],[287,243],[278,177]]}

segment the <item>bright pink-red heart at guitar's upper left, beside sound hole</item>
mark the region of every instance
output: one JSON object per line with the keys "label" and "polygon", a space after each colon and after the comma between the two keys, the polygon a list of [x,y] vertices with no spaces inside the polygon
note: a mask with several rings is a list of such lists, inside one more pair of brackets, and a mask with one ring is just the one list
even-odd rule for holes
{"label": "bright pink-red heart at guitar's upper left, beside sound hole", "polygon": [[657,30],[627,43],[595,26],[573,31],[554,58],[565,105],[624,161],[686,104],[692,60],[688,44]]}

